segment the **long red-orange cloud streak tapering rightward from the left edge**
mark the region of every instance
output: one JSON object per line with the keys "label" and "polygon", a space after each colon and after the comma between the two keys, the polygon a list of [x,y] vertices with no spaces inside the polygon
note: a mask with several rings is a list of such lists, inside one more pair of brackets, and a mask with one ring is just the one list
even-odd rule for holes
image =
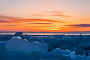
{"label": "long red-orange cloud streak tapering rightward from the left edge", "polygon": [[26,19],[26,18],[18,18],[18,17],[8,17],[8,16],[0,16],[0,22],[2,23],[21,23],[21,22],[58,22],[64,23],[62,21],[56,21],[51,19]]}

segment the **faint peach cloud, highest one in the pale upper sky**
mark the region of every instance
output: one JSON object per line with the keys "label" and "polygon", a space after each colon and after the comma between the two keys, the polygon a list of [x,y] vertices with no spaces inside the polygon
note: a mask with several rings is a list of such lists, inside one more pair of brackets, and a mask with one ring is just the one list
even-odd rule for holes
{"label": "faint peach cloud, highest one in the pale upper sky", "polygon": [[45,16],[55,16],[55,17],[71,17],[69,15],[63,14],[61,11],[45,11],[42,13],[31,14],[33,17],[45,17]]}

